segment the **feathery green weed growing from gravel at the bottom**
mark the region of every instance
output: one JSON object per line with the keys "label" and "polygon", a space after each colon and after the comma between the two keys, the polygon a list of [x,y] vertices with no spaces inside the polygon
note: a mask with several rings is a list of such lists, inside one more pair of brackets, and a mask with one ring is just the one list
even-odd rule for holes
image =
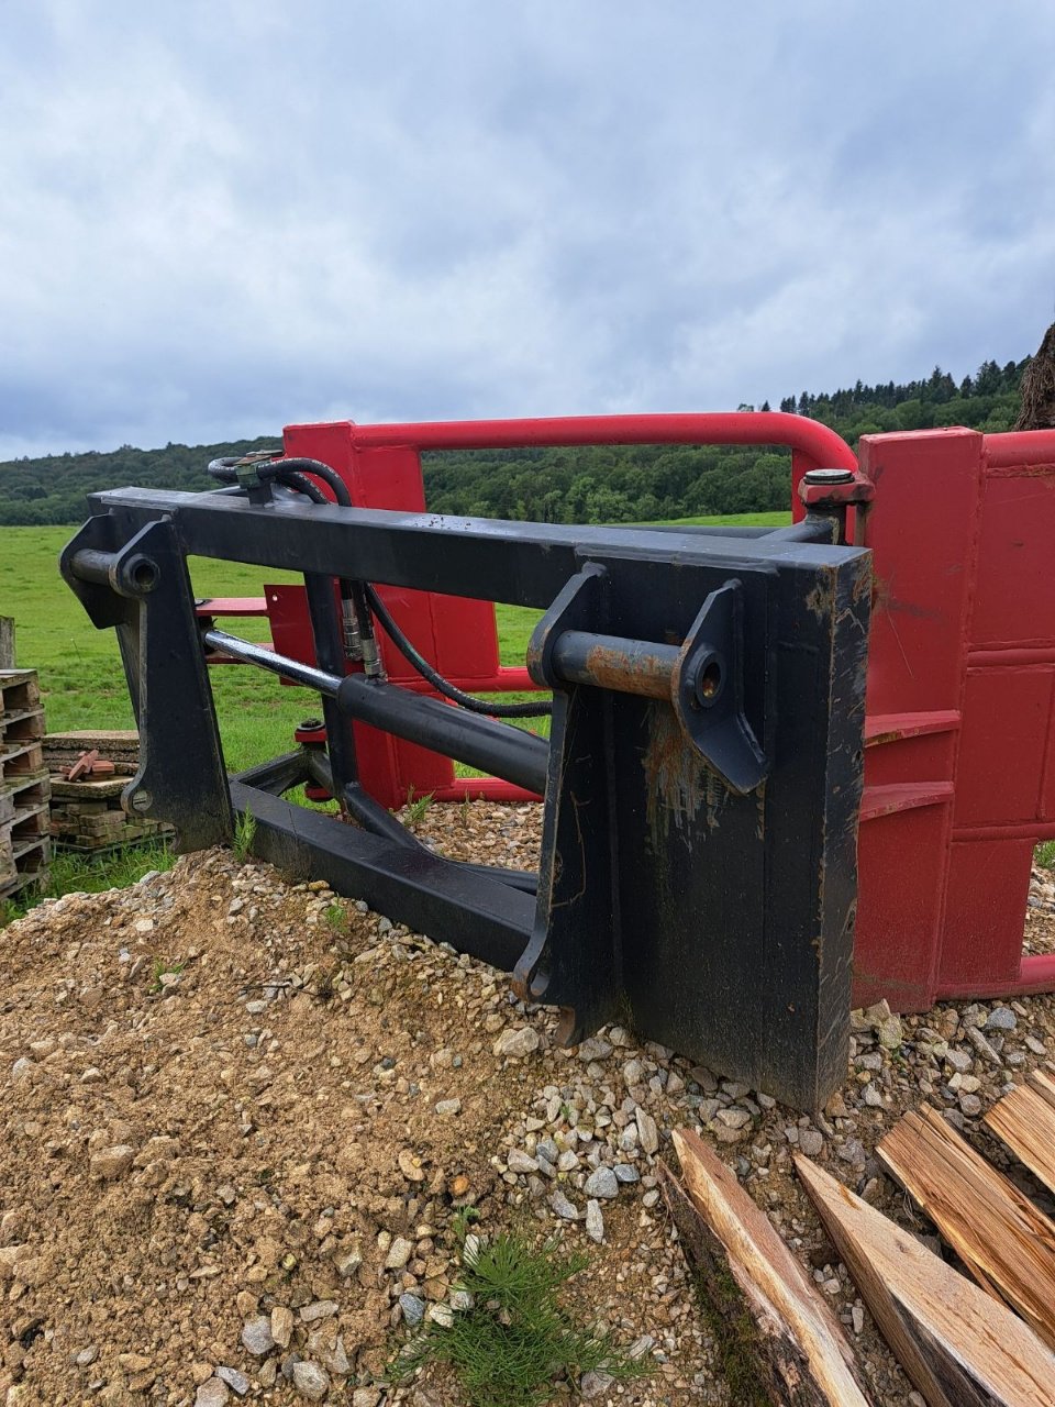
{"label": "feathery green weed growing from gravel at the bottom", "polygon": [[492,1241],[463,1235],[459,1289],[473,1297],[471,1307],[412,1338],[390,1365],[391,1380],[407,1382],[426,1363],[447,1363],[468,1407],[542,1407],[558,1376],[641,1376],[647,1365],[619,1349],[608,1332],[575,1324],[560,1303],[561,1287],[587,1263],[581,1254],[560,1255],[556,1240],[533,1247],[511,1234]]}

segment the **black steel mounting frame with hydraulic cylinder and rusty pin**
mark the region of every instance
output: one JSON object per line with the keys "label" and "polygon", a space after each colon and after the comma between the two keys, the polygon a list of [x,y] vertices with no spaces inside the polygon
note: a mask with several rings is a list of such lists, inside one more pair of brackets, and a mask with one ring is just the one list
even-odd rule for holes
{"label": "black steel mounting frame with hydraulic cylinder and rusty pin", "polygon": [[[181,848],[252,812],[264,858],[513,971],[564,1009],[567,1040],[619,1020],[821,1104],[848,1048],[868,553],[821,514],[772,533],[568,528],[319,504],[277,476],[232,487],[96,495],[63,553],[121,640],[142,737],[125,803]],[[302,571],[315,664],[196,622],[190,556]],[[367,632],[370,582],[544,611],[528,663],[553,689],[550,741],[364,674],[336,581]],[[228,779],[211,650],[314,691],[325,747]],[[539,875],[421,846],[363,789],[353,719],[544,791]],[[284,801],[302,781],[356,825]]]}

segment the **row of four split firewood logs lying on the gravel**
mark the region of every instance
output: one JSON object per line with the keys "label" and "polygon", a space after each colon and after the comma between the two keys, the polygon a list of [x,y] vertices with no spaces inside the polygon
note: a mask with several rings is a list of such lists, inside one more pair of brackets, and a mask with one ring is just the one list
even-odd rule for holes
{"label": "row of four split firewood logs lying on the gravel", "polygon": [[[1030,1075],[985,1123],[1055,1190],[1049,1072]],[[693,1133],[675,1131],[674,1145],[681,1180],[661,1169],[667,1204],[727,1335],[750,1328],[754,1386],[789,1407],[872,1401],[830,1307],[734,1173]],[[795,1168],[924,1401],[1055,1407],[1055,1224],[934,1109],[906,1114],[876,1157],[966,1273],[809,1158]]]}

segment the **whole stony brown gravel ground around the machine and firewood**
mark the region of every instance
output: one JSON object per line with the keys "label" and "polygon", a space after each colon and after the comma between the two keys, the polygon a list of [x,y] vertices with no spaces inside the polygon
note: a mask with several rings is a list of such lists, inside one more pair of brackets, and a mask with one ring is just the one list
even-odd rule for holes
{"label": "whole stony brown gravel ground around the machine and firewood", "polygon": [[[529,867],[537,825],[535,806],[435,806],[418,833]],[[1027,943],[1055,947],[1045,871]],[[474,1206],[484,1234],[589,1249],[578,1309],[653,1366],[585,1380],[594,1401],[726,1407],[656,1185],[688,1124],[831,1296],[876,1400],[914,1401],[791,1152],[928,1238],[875,1142],[930,1102],[1007,1166],[979,1120],[1055,1048],[1052,999],[855,1013],[847,1085],[816,1119],[618,1027],[560,1050],[554,1026],[501,974],[226,851],[41,905],[0,940],[0,1393],[456,1407],[440,1375],[381,1377],[407,1325],[447,1311],[452,1217]]]}

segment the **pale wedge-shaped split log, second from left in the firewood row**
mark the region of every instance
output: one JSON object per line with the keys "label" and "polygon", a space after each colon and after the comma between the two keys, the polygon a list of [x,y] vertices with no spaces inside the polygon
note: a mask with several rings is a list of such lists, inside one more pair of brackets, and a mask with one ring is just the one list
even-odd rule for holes
{"label": "pale wedge-shaped split log, second from left in the firewood row", "polygon": [[795,1168],[928,1407],[1051,1407],[1055,1355],[1032,1330],[809,1158]]}

